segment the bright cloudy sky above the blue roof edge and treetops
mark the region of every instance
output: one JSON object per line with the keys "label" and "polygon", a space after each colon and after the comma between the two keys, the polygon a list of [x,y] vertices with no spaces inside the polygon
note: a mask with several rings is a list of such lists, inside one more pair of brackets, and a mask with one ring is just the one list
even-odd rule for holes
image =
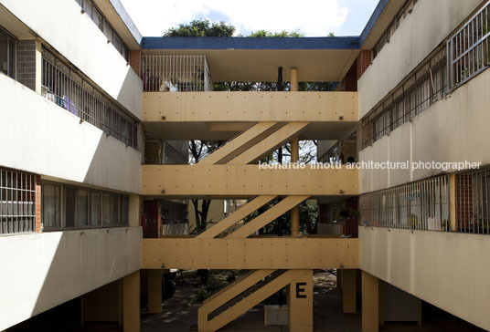
{"label": "bright cloudy sky above the blue roof edge and treetops", "polygon": [[300,31],[304,36],[359,36],[378,0],[120,0],[143,36],[193,19],[225,21],[237,35],[257,30]]}

